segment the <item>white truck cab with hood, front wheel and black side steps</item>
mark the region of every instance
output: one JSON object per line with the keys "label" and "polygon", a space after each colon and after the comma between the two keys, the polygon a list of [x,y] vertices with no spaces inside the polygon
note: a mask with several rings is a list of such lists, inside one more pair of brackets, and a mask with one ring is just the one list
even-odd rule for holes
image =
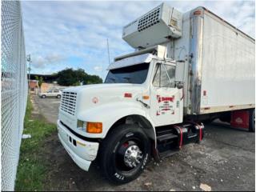
{"label": "white truck cab with hood, front wheel and black side steps", "polygon": [[201,141],[202,125],[178,126],[183,91],[175,73],[185,65],[139,54],[110,64],[102,84],[63,90],[58,136],[74,162],[88,170],[98,156],[107,178],[129,182],[150,156],[159,161],[161,152]]}

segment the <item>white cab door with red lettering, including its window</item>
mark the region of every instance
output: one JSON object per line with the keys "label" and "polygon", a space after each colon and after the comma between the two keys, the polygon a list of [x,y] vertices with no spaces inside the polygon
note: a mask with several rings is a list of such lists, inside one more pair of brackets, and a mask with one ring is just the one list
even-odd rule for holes
{"label": "white cab door with red lettering, including its window", "polygon": [[180,90],[174,86],[174,64],[157,63],[150,86],[150,117],[155,126],[182,122]]}

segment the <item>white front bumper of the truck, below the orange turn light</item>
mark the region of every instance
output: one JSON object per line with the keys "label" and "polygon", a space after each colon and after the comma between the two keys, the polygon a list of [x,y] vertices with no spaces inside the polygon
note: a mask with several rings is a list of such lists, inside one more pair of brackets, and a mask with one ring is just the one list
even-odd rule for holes
{"label": "white front bumper of the truck, below the orange turn light", "polygon": [[73,161],[82,169],[89,170],[98,153],[98,142],[86,142],[67,130],[58,120],[58,138]]}

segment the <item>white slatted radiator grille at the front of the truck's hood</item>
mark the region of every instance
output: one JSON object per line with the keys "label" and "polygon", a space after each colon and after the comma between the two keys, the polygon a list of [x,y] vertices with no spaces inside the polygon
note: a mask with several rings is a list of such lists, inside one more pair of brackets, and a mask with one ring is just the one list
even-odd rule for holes
{"label": "white slatted radiator grille at the front of the truck's hood", "polygon": [[61,110],[65,111],[67,114],[75,114],[75,106],[77,101],[77,93],[73,92],[62,92],[61,100]]}

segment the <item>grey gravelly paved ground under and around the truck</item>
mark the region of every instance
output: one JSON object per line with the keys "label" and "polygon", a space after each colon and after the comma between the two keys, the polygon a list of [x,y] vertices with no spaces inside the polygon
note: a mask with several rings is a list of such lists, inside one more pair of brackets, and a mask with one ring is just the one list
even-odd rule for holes
{"label": "grey gravelly paved ground under and around the truck", "polygon": [[[34,98],[49,122],[58,118],[57,98]],[[114,186],[102,177],[96,163],[88,172],[74,164],[57,131],[43,146],[44,161],[50,162],[46,190],[255,190],[255,135],[218,122],[206,125],[200,145],[183,146],[178,154],[164,158],[159,165],[151,161],[135,181]]]}

